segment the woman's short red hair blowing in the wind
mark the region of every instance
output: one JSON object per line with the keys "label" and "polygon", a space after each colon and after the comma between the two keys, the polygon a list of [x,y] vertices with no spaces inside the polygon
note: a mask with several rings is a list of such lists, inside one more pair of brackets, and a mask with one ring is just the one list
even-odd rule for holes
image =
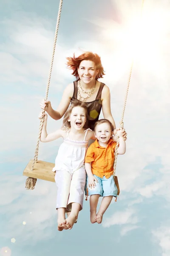
{"label": "woman's short red hair blowing in the wind", "polygon": [[79,55],[77,58],[75,57],[75,54],[73,55],[73,58],[67,57],[67,67],[73,70],[72,75],[75,76],[77,80],[79,80],[77,69],[79,68],[80,63],[84,60],[93,61],[96,66],[96,70],[99,70],[99,73],[96,76],[96,80],[102,78],[105,75],[99,55],[93,52],[85,52]]}

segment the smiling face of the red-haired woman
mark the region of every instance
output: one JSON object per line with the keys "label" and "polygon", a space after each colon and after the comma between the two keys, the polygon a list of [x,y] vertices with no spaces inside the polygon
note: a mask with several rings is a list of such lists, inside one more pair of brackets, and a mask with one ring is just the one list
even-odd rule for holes
{"label": "smiling face of the red-haired woman", "polygon": [[79,78],[85,83],[89,84],[95,81],[99,70],[96,70],[96,66],[93,61],[81,61],[78,68]]}

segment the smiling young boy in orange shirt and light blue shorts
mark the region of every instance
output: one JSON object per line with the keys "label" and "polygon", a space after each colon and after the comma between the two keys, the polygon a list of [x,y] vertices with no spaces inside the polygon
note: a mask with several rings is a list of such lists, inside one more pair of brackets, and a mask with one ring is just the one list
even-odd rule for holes
{"label": "smiling young boy in orange shirt and light blue shorts", "polygon": [[[94,125],[96,140],[90,145],[85,157],[85,170],[87,180],[85,194],[90,195],[91,223],[102,223],[102,217],[113,196],[117,196],[117,187],[113,179],[113,163],[116,142],[113,137],[113,125],[107,119],[100,119]],[[117,131],[119,136],[118,154],[125,154],[126,144],[122,137],[122,130]],[[96,208],[99,197],[102,196],[102,203],[99,212]]]}

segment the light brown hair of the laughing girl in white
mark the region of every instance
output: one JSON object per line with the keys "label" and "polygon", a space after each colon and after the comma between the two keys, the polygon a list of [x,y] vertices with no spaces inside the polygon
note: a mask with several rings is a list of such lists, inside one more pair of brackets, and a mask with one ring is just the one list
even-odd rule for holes
{"label": "light brown hair of the laughing girl in white", "polygon": [[62,122],[62,130],[68,131],[71,128],[71,124],[70,122],[68,122],[68,119],[71,115],[71,112],[73,110],[74,107],[81,107],[85,109],[85,117],[86,117],[86,122],[88,120],[88,109],[86,107],[86,104],[84,102],[81,102],[79,100],[75,100],[74,102],[71,102],[70,107],[68,108],[68,110],[65,112],[64,118],[63,118],[63,122]]}

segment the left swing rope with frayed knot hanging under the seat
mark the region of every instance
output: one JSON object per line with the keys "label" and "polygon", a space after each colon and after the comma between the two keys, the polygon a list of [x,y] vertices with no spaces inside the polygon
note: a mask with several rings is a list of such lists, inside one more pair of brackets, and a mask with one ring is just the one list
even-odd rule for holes
{"label": "left swing rope with frayed knot hanging under the seat", "polygon": [[[55,30],[55,35],[54,35],[53,53],[52,53],[51,65],[50,65],[50,70],[49,70],[49,75],[48,75],[48,82],[47,82],[46,93],[45,93],[45,101],[47,101],[47,98],[48,98],[48,90],[49,90],[49,86],[50,86],[51,72],[52,72],[52,67],[53,67],[54,53],[55,53],[57,35],[58,35],[58,29],[59,29],[59,21],[60,21],[61,10],[62,10],[62,1],[63,0],[60,0],[60,2],[59,2],[59,11],[58,11],[58,15],[57,15],[57,24],[56,24],[56,30]],[[42,111],[42,113],[45,113],[45,110]],[[38,135],[38,139],[37,139],[37,145],[36,145],[36,149],[35,149],[34,161],[32,164],[31,172],[34,170],[34,164],[37,163],[38,149],[39,149],[40,136],[41,136],[43,122],[44,122],[44,117],[40,121],[39,135]],[[34,189],[36,182],[37,182],[36,178],[28,177],[26,179],[26,189]]]}

